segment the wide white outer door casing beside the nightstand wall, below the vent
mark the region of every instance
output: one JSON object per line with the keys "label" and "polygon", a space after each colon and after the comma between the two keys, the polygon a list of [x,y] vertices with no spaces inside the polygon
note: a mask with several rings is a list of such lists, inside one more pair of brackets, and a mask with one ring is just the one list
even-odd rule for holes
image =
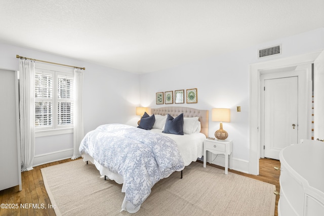
{"label": "wide white outer door casing beside the nightstand wall, below the vent", "polygon": [[[259,175],[260,159],[260,72],[262,70],[278,69],[284,67],[294,67],[304,64],[312,64],[319,56],[319,52],[309,53],[299,56],[280,58],[266,62],[260,62],[250,65],[250,110],[249,110],[249,174]],[[311,96],[311,71],[307,71],[307,95]],[[307,115],[311,117],[311,97],[309,99],[309,110]],[[309,122],[309,130],[311,121]]]}

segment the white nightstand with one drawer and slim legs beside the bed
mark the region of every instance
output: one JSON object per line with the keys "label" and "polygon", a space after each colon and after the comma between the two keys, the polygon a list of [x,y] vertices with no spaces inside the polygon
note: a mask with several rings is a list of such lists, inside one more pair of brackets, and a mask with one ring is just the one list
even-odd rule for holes
{"label": "white nightstand with one drawer and slim legs beside the bed", "polygon": [[204,142],[204,167],[206,167],[207,151],[213,154],[225,155],[225,174],[228,174],[228,155],[229,155],[229,168],[232,168],[232,149],[233,142],[231,140],[210,140],[206,139]]}

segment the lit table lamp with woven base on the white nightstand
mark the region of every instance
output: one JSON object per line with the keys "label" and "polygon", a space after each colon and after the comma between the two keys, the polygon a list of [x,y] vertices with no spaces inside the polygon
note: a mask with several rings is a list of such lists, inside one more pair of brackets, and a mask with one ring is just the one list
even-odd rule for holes
{"label": "lit table lamp with woven base on the white nightstand", "polygon": [[230,122],[230,109],[214,108],[212,109],[212,121],[220,121],[219,130],[215,132],[215,137],[218,140],[225,140],[228,134],[223,129],[223,122]]}

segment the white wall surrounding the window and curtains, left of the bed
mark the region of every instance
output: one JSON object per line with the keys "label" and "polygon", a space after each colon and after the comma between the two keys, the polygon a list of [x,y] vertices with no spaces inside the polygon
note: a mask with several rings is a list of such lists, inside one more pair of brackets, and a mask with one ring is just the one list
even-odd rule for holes
{"label": "white wall surrounding the window and curtains, left of the bed", "polygon": [[[85,133],[104,123],[137,124],[139,75],[35,50],[0,44],[0,68],[19,70],[16,55],[85,67],[83,111]],[[35,139],[33,165],[72,156],[73,134]]]}

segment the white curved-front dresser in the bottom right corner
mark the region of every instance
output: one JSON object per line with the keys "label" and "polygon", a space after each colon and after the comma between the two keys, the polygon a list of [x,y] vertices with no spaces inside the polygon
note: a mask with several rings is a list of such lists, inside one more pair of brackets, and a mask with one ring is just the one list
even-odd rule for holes
{"label": "white curved-front dresser in the bottom right corner", "polygon": [[288,146],[279,158],[278,215],[324,215],[324,142]]}

